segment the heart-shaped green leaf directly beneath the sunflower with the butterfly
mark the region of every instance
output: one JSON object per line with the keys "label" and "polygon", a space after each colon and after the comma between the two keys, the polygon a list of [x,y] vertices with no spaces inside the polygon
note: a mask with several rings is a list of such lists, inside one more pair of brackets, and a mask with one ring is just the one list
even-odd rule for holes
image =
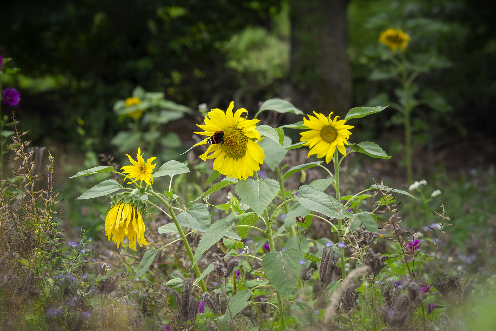
{"label": "heart-shaped green leaf directly beneath the sunflower with the butterfly", "polygon": [[240,180],[236,184],[236,194],[257,215],[262,215],[279,192],[279,183],[270,178]]}

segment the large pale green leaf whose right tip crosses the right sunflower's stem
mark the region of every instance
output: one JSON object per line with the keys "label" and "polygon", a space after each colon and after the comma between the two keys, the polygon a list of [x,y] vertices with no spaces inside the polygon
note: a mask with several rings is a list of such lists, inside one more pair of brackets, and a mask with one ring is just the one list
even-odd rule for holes
{"label": "large pale green leaf whose right tip crosses the right sunflower's stem", "polygon": [[317,213],[324,214],[331,218],[353,218],[349,211],[343,210],[342,216],[336,208],[339,208],[339,202],[328,194],[320,192],[310,185],[302,185],[296,196],[303,207],[313,210]]}

